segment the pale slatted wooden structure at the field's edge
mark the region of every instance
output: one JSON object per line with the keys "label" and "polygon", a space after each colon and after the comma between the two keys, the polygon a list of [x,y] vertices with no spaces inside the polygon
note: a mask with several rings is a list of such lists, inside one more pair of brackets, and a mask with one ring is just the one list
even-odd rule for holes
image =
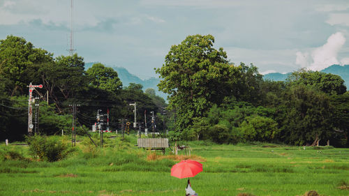
{"label": "pale slatted wooden structure at the field's edge", "polygon": [[165,149],[168,148],[168,138],[138,138],[138,148],[161,150],[165,153]]}

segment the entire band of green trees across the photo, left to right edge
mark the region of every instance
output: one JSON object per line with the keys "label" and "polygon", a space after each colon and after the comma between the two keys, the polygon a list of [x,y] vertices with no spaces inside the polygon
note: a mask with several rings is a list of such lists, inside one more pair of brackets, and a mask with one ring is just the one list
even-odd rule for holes
{"label": "entire band of green trees across the photo, left to right edge", "polygon": [[[24,38],[8,36],[0,40],[1,140],[27,134],[32,82],[43,84],[34,93],[41,101],[39,129],[46,135],[69,133],[71,103],[80,105],[82,126],[94,124],[97,110],[109,110],[115,129],[119,119],[133,121],[129,103],[137,102],[137,119],[143,122],[146,111],[158,113],[158,130],[165,121],[173,141],[349,145],[349,93],[338,75],[301,69],[285,82],[263,80],[253,64],[237,65],[223,48],[215,49],[211,35],[188,36],[172,45],[156,73],[168,104],[154,89],[124,86],[118,73],[101,63],[85,70],[82,56],[54,58]],[[161,114],[165,107],[166,115]]]}

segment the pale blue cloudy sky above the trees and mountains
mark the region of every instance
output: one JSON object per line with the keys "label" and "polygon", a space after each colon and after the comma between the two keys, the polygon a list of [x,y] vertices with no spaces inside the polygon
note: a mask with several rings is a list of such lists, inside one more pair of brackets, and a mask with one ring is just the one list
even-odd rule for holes
{"label": "pale blue cloudy sky above the trees and mountains", "polygon": [[0,0],[0,40],[20,36],[54,56],[158,77],[171,45],[211,34],[230,62],[260,73],[349,64],[348,0]]}

